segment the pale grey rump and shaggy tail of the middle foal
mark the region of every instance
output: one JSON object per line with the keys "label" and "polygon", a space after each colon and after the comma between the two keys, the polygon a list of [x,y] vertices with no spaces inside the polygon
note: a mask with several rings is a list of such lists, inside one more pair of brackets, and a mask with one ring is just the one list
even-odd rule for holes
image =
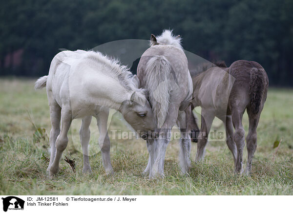
{"label": "pale grey rump and shaggy tail of the middle foal", "polygon": [[166,119],[170,103],[180,105],[191,99],[192,84],[187,58],[178,47],[155,45],[142,55],[138,69],[138,77],[143,79],[141,86],[147,88],[160,127]]}

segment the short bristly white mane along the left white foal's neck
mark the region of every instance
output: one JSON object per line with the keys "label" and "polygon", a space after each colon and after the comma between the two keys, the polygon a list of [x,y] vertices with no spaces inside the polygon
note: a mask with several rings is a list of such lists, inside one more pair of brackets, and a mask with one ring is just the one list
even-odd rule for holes
{"label": "short bristly white mane along the left white foal's neck", "polygon": [[[78,52],[79,51],[79,52]],[[117,80],[127,90],[135,91],[138,97],[142,100],[145,99],[145,89],[138,88],[138,85],[133,81],[134,75],[129,71],[129,68],[122,65],[119,60],[109,58],[100,52],[95,51],[83,51],[77,50],[78,53],[84,54],[84,59],[91,62],[103,65],[105,69],[101,69],[106,75]]]}

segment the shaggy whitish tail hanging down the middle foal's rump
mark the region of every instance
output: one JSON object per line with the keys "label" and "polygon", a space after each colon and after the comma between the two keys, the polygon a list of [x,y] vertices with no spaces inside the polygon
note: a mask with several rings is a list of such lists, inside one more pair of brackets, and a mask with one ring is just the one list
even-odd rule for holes
{"label": "shaggy whitish tail hanging down the middle foal's rump", "polygon": [[169,78],[171,64],[164,56],[154,56],[146,64],[146,88],[149,91],[150,103],[161,128],[169,105]]}

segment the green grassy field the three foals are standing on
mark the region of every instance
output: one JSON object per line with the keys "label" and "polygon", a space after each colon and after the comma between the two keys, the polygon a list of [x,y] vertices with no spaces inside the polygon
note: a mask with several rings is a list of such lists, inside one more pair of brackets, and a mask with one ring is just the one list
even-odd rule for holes
{"label": "green grassy field the three foals are standing on", "polygon": [[[48,179],[50,132],[49,107],[45,89],[33,90],[33,80],[0,79],[0,194],[96,194],[96,195],[292,195],[293,194],[293,89],[269,89],[258,126],[258,146],[252,174],[234,175],[232,155],[225,142],[210,142],[206,158],[192,162],[189,176],[178,166],[178,140],[168,145],[164,179],[142,176],[148,154],[142,139],[111,140],[115,174],[105,175],[98,152],[96,122],[91,124],[90,164],[92,174],[82,174],[83,158],[78,139],[80,121],[70,130],[70,142],[63,156],[74,159],[76,173],[61,160],[60,172]],[[111,113],[110,128],[128,131],[119,113]],[[243,119],[248,129],[248,117]],[[214,121],[213,128],[223,125]],[[44,129],[44,130],[43,130]],[[110,133],[110,132],[109,132]],[[111,138],[111,134],[110,134]],[[275,141],[282,140],[279,149]],[[275,157],[274,157],[274,153]],[[192,144],[194,160],[196,144]],[[247,151],[244,151],[244,164]]]}

